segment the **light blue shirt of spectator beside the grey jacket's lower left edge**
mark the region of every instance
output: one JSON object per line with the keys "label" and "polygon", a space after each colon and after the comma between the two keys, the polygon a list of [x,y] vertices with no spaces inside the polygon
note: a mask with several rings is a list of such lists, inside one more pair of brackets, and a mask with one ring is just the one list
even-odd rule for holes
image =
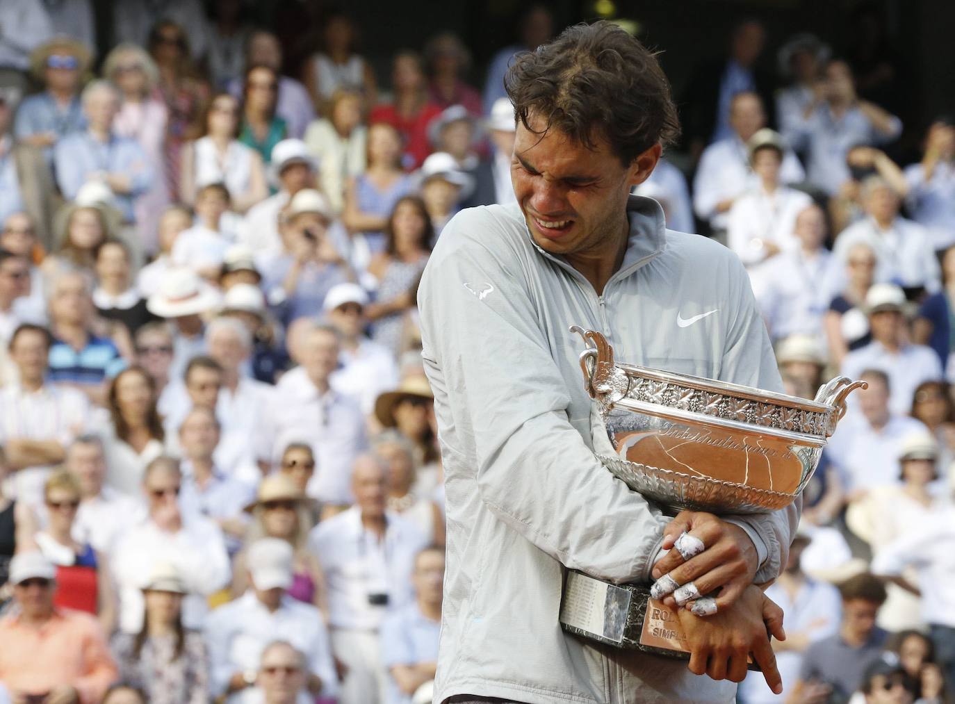
{"label": "light blue shirt of spectator beside the grey jacket's lower left edge", "polygon": [[381,624],[381,664],[388,673],[385,704],[411,704],[412,698],[398,689],[391,669],[437,662],[437,641],[441,624],[426,618],[417,603],[390,614]]}

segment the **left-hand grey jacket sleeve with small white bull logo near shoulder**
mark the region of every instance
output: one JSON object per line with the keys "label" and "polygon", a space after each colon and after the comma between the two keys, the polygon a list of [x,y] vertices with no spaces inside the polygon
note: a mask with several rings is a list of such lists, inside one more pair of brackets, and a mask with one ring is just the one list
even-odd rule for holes
{"label": "left-hand grey jacket sleeve with small white bull logo near shoulder", "polygon": [[487,508],[562,565],[645,580],[668,519],[614,479],[571,424],[567,382],[526,284],[537,272],[520,270],[533,265],[503,238],[497,251],[484,245],[481,230],[495,223],[480,212],[446,227],[449,246],[438,247],[418,292],[439,425],[466,445],[442,438],[446,461],[473,468]]}

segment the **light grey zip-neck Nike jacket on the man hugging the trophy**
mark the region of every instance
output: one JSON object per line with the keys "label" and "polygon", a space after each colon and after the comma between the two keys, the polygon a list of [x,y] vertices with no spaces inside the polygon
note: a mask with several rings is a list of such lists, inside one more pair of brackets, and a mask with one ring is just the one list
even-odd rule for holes
{"label": "light grey zip-neck Nike jacket on the man hugging the trophy", "polygon": [[[736,255],[667,230],[655,201],[631,196],[627,209],[624,263],[602,296],[534,244],[517,205],[458,213],[425,269],[418,306],[448,523],[435,702],[732,701],[731,682],[558,622],[565,569],[648,582],[668,523],[594,456],[583,342],[567,328],[603,332],[620,361],[781,388]],[[757,582],[785,565],[799,509],[733,518],[763,558]]]}

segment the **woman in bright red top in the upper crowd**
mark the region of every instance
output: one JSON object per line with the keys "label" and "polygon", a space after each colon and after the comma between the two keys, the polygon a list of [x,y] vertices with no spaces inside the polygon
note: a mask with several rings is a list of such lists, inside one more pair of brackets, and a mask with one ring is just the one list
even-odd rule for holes
{"label": "woman in bright red top in the upper crowd", "polygon": [[[393,102],[373,108],[369,122],[386,122],[398,131],[404,141],[402,165],[414,169],[431,153],[428,126],[441,114],[441,108],[429,99],[424,68],[418,54],[409,51],[394,54],[392,89]],[[371,154],[369,162],[371,165]]]}

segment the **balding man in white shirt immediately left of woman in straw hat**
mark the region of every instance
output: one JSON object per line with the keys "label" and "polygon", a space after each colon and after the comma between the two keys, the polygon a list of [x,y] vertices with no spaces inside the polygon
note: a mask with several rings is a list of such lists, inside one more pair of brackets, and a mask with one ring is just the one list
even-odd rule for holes
{"label": "balding man in white shirt immediately left of woman in straw hat", "polygon": [[292,438],[307,441],[318,460],[308,496],[328,507],[348,506],[351,466],[366,447],[365,418],[356,401],[330,385],[341,352],[338,331],[308,324],[300,345],[301,366],[282,377],[272,396],[259,456],[272,458]]}

